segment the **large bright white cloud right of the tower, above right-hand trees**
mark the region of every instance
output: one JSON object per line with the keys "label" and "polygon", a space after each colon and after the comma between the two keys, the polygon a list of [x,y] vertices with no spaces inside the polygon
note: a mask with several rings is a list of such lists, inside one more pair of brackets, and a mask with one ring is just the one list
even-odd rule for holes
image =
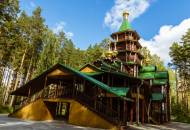
{"label": "large bright white cloud right of the tower, above right-hand trees", "polygon": [[169,48],[173,42],[180,42],[182,35],[184,35],[188,28],[190,28],[190,18],[183,20],[180,24],[164,25],[160,27],[159,33],[150,40],[141,39],[142,46],[146,46],[152,54],[157,54],[165,62],[171,61],[169,56]]}

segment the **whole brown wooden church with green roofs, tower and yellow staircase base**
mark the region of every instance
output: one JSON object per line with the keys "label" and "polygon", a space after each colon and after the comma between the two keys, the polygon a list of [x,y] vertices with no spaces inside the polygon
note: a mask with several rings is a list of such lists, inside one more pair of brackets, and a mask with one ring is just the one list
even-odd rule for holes
{"label": "whole brown wooden church with green roofs, tower and yellow staircase base", "polygon": [[169,121],[168,72],[142,66],[140,36],[128,15],[111,34],[105,57],[80,70],[61,64],[48,69],[12,92],[17,101],[10,116],[106,129]]}

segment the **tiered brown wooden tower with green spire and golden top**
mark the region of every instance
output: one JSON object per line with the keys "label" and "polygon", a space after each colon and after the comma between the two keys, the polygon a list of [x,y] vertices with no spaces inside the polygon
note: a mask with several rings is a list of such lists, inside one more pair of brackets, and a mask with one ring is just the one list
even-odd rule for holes
{"label": "tiered brown wooden tower with green spire and golden top", "polygon": [[137,77],[142,65],[143,56],[139,52],[142,47],[139,43],[140,36],[131,28],[128,16],[128,12],[123,13],[119,31],[111,34],[113,42],[109,44],[109,49],[117,51],[117,58],[122,62],[121,71]]}

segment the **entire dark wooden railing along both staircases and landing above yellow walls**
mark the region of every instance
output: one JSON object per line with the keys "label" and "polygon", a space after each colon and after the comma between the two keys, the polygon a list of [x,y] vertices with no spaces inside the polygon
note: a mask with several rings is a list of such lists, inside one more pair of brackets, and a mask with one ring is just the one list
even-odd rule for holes
{"label": "entire dark wooden railing along both staircases and landing above yellow walls", "polygon": [[101,117],[109,120],[110,122],[115,124],[121,123],[119,122],[118,112],[110,108],[110,106],[103,104],[101,101],[99,101],[100,99],[98,100],[96,98],[90,97],[73,87],[64,89],[64,91],[61,90],[59,91],[60,92],[52,91],[51,93],[46,93],[46,94],[41,92],[41,95],[38,94],[38,96],[23,99],[19,102],[20,104],[19,108],[15,109],[15,111],[21,109],[27,104],[34,102],[40,98],[43,99],[72,98],[81,103],[82,105],[86,106],[88,109],[94,111],[95,113],[98,113]]}

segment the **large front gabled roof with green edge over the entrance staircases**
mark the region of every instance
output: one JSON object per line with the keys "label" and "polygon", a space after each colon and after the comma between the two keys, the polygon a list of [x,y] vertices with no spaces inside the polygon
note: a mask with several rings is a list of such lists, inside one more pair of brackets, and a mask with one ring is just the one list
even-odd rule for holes
{"label": "large front gabled roof with green edge over the entrance staircases", "polygon": [[[81,78],[84,78],[85,80],[89,81],[90,83],[94,84],[95,86],[109,92],[112,93],[118,97],[122,97],[120,93],[118,93],[116,90],[112,90],[108,85],[104,84],[103,82],[100,82],[96,79],[94,79],[93,77],[90,77],[78,70],[69,68],[67,66],[64,66],[62,64],[56,64],[55,66],[53,66],[52,68],[48,69],[47,71],[45,71],[44,73],[42,73],[41,75],[39,75],[38,77],[36,77],[35,79],[29,81],[27,84],[23,85],[22,87],[18,88],[17,90],[15,90],[14,92],[12,92],[12,95],[18,95],[18,96],[28,96],[28,93],[30,91],[30,95],[32,96],[33,94],[35,94],[36,92],[39,92],[40,90],[44,89],[44,84],[45,84],[45,79],[48,76],[48,74],[52,73],[54,70],[62,70],[63,72],[67,72],[70,73],[71,75],[75,75],[75,76],[79,76]],[[46,83],[46,85],[48,85]],[[31,89],[30,89],[31,88]],[[131,100],[128,99],[126,97],[123,97],[126,100]]]}

